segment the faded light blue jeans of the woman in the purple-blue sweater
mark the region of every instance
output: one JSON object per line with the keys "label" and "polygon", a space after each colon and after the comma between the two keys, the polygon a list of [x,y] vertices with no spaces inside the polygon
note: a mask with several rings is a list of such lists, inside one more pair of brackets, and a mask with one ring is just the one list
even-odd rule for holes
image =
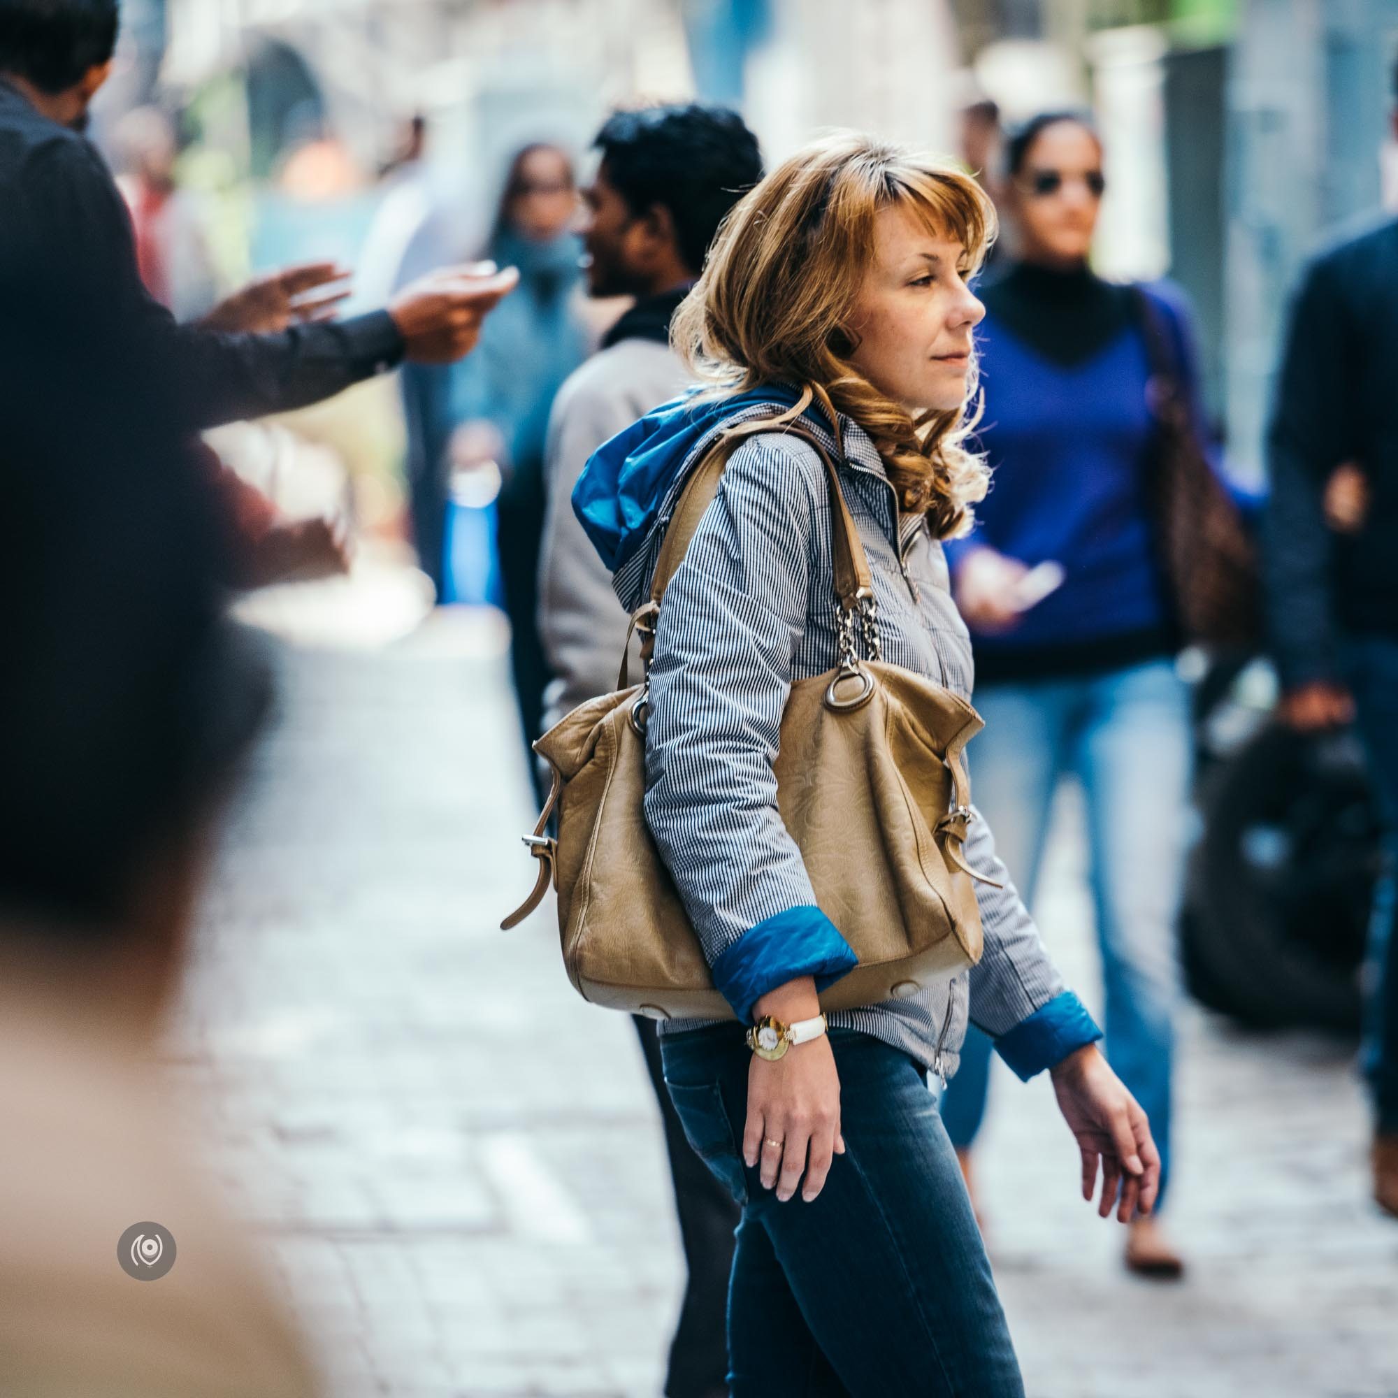
{"label": "faded light blue jeans of the woman in the purple-blue sweater", "polygon": [[[1092,902],[1104,976],[1106,1053],[1151,1118],[1160,1197],[1170,1172],[1170,1064],[1180,1000],[1176,920],[1184,882],[1190,699],[1167,660],[1099,675],[986,685],[969,748],[972,795],[1033,907],[1058,781],[1088,807]],[[976,1015],[976,974],[970,979]],[[986,1111],[991,1042],[973,1029],[942,1099],[959,1149]]]}

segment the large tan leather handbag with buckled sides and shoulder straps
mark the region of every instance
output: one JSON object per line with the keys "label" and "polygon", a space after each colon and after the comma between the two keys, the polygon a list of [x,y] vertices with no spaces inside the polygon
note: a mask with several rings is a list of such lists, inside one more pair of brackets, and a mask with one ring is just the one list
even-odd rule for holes
{"label": "large tan leather handbag with buckled sides and shoulder straps", "polygon": [[[809,398],[804,398],[800,411]],[[791,414],[783,414],[783,418]],[[650,603],[632,619],[647,663],[665,587],[713,500],[735,446],[772,419],[730,429],[695,467],[665,534]],[[916,994],[980,958],[973,879],[962,854],[970,787],[962,749],[981,720],[951,691],[878,658],[868,559],[835,461],[830,491],[840,664],[791,686],[776,761],[777,805],[815,888],[816,903],[858,956],[821,995],[847,1009]],[[861,626],[871,658],[856,650]],[[502,927],[523,921],[549,884],[569,980],[586,1000],[654,1019],[733,1019],[646,826],[647,688],[628,686],[575,709],[534,748],[554,790],[533,835],[538,881]],[[545,833],[558,808],[558,839]],[[983,879],[983,882],[990,882]]]}

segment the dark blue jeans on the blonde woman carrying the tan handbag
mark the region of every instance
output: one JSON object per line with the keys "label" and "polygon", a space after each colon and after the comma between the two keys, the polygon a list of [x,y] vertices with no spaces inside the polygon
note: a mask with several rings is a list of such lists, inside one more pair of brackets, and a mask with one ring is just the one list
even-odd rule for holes
{"label": "dark blue jeans on the blonde woman carrying the tan handbag", "polygon": [[[728,1286],[734,1398],[1022,1398],[956,1156],[907,1054],[830,1033],[846,1153],[811,1204],[742,1163],[752,1054],[738,1025],[661,1035],[685,1135],[742,1209]],[[800,1053],[801,1050],[794,1050]]]}

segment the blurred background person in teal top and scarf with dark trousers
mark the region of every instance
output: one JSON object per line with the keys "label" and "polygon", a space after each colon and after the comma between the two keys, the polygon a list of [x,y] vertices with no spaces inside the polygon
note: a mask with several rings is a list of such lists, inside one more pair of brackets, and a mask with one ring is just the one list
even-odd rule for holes
{"label": "blurred background person in teal top and scarf with dark trousers", "polygon": [[496,548],[526,745],[544,731],[548,681],[538,636],[548,414],[563,380],[587,354],[576,215],[577,186],[568,152],[547,143],[519,151],[485,249],[491,260],[519,267],[519,291],[491,319],[475,355],[450,370],[447,389],[452,466],[475,470],[495,463],[500,471]]}

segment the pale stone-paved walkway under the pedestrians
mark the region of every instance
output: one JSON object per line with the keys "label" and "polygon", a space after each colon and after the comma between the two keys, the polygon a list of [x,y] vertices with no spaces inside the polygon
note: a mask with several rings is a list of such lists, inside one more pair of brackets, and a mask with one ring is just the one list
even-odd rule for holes
{"label": "pale stone-paved walkway under the pedestrians", "polygon": [[[653,1398],[679,1285],[654,1110],[547,914],[496,930],[534,814],[499,650],[457,615],[288,657],[169,1057],[330,1391]],[[1043,914],[1090,986],[1076,857],[1069,832]],[[1029,1392],[1398,1395],[1398,1225],[1346,1050],[1191,1014],[1180,1095],[1192,1269],[1162,1288],[1076,1197],[1047,1085],[997,1079],[984,1209]]]}

